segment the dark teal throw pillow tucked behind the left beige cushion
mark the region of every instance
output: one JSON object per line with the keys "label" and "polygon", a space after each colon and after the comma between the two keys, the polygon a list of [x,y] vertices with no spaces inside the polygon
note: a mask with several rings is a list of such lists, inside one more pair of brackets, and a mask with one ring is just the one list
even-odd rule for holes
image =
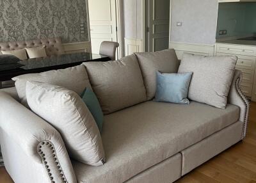
{"label": "dark teal throw pillow tucked behind the left beige cushion", "polygon": [[99,100],[97,96],[90,88],[85,88],[84,92],[81,95],[84,103],[88,107],[89,111],[92,113],[92,116],[97,123],[99,131],[102,131],[102,124],[104,120],[104,115],[102,113],[102,109],[100,107]]}

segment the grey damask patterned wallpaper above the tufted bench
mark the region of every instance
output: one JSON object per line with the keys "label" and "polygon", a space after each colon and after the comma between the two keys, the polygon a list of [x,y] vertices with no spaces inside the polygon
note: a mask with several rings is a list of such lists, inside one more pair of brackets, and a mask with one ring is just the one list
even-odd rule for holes
{"label": "grey damask patterned wallpaper above the tufted bench", "polygon": [[88,41],[86,0],[0,0],[0,42],[58,36]]}

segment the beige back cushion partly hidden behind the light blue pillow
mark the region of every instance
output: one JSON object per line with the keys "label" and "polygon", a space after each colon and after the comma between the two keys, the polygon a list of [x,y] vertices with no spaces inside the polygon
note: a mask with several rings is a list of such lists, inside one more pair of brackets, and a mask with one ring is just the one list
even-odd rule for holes
{"label": "beige back cushion partly hidden behind the light blue pillow", "polygon": [[179,61],[174,49],[166,49],[157,52],[136,53],[140,64],[147,100],[151,100],[156,95],[156,73],[177,73]]}

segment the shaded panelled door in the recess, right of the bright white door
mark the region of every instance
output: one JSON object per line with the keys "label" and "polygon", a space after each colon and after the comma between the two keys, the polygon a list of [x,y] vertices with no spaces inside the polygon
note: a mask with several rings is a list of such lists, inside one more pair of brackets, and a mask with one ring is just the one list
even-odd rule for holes
{"label": "shaded panelled door in the recess, right of the bright white door", "polygon": [[[148,0],[145,4],[146,50],[161,51],[169,47],[170,0]],[[148,17],[147,17],[148,16]]]}

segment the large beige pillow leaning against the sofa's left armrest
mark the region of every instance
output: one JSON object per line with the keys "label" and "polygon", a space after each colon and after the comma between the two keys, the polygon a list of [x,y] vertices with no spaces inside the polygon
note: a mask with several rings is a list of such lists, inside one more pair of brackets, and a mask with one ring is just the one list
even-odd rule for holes
{"label": "large beige pillow leaning against the sofa's left armrest", "polygon": [[61,86],[28,81],[26,96],[31,110],[60,132],[72,158],[92,166],[104,164],[99,129],[76,92]]}

